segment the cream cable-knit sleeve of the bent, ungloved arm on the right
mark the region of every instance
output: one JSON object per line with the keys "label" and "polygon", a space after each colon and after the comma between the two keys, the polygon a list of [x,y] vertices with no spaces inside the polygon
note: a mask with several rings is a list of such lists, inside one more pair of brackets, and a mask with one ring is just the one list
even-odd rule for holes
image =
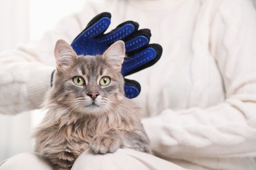
{"label": "cream cable-knit sleeve of the bent, ungloved arm on the right", "polygon": [[165,158],[256,155],[255,9],[247,0],[226,0],[212,16],[209,41],[225,101],[142,120],[152,149]]}

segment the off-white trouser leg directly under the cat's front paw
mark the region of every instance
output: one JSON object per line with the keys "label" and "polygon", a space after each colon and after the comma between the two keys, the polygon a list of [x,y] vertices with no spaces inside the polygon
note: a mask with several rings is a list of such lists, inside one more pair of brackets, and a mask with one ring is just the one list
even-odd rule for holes
{"label": "off-white trouser leg directly under the cat's front paw", "polygon": [[85,169],[179,169],[182,167],[151,154],[131,149],[118,149],[114,153],[94,154],[90,150],[83,152],[72,170]]}

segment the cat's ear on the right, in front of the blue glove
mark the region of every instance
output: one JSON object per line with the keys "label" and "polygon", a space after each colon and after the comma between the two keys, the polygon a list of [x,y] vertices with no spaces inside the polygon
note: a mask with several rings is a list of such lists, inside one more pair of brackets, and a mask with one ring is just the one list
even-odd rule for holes
{"label": "cat's ear on the right, in front of the blue glove", "polygon": [[121,65],[125,58],[125,43],[123,41],[116,41],[104,52],[103,58],[105,58],[114,69],[121,70]]}

